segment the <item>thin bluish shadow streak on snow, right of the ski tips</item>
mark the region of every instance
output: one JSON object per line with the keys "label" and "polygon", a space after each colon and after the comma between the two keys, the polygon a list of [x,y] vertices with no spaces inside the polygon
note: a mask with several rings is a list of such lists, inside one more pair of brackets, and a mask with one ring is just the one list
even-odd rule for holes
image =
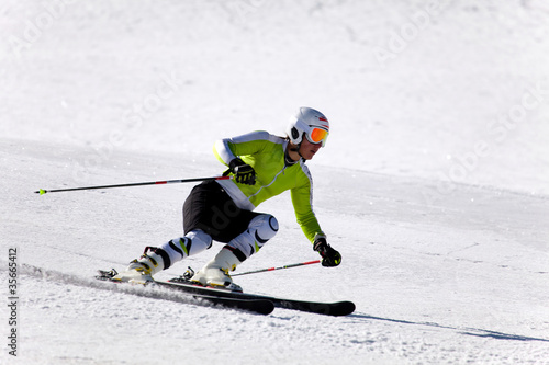
{"label": "thin bluish shadow streak on snow, right of the ski tips", "polygon": [[470,328],[470,327],[460,328],[460,327],[444,326],[444,324],[434,323],[434,322],[414,322],[414,321],[407,321],[407,320],[402,320],[402,319],[391,319],[391,318],[368,316],[365,313],[354,313],[354,315],[349,315],[347,317],[348,318],[366,319],[366,320],[374,320],[374,321],[385,321],[385,322],[393,322],[393,323],[411,324],[411,326],[435,327],[435,328],[440,328],[440,329],[453,330],[453,331],[457,331],[458,333],[461,333],[461,334],[473,335],[473,337],[478,337],[478,338],[491,338],[491,339],[496,339],[496,340],[513,340],[513,341],[549,342],[548,339],[531,338],[531,337],[520,335],[520,334],[509,334],[509,333],[503,333],[503,332],[497,332],[497,331],[483,330],[483,329],[479,329],[479,328]]}

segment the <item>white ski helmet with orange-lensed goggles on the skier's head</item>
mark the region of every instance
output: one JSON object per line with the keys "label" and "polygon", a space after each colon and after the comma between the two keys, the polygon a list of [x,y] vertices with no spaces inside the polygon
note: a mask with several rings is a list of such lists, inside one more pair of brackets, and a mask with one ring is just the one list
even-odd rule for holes
{"label": "white ski helmet with orange-lensed goggles on the skier's head", "polygon": [[310,142],[315,145],[322,142],[324,147],[329,134],[329,122],[321,112],[302,106],[290,117],[285,133],[294,145],[299,146],[305,136]]}

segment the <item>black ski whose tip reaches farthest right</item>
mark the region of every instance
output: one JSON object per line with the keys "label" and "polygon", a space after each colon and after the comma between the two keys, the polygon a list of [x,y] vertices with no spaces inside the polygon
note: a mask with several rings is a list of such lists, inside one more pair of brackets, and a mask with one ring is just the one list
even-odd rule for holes
{"label": "black ski whose tip reaches farthest right", "polygon": [[348,316],[355,311],[355,304],[352,301],[336,301],[336,303],[322,303],[322,301],[310,301],[310,300],[295,300],[295,299],[284,299],[273,296],[229,292],[226,289],[217,289],[212,287],[197,286],[191,284],[186,277],[179,276],[171,278],[168,282],[155,282],[157,285],[165,286],[168,288],[182,290],[187,293],[194,294],[210,294],[223,298],[238,298],[247,300],[269,300],[274,307],[293,309],[299,311],[306,311],[317,315],[326,316]]}

